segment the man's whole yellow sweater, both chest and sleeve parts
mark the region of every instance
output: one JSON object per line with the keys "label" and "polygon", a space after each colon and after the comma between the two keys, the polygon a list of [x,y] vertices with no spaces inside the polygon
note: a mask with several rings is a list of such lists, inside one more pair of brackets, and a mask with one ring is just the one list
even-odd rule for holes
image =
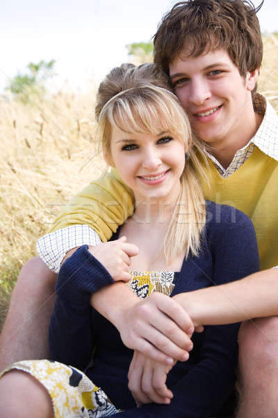
{"label": "man's whole yellow sweater, both chest and sleeve parts", "polygon": [[[245,212],[256,229],[261,269],[278,265],[278,162],[256,148],[228,178],[220,176],[213,162],[208,165],[211,188],[200,179],[205,198]],[[132,212],[133,194],[113,170],[75,196],[51,231],[88,224],[106,241]]]}

